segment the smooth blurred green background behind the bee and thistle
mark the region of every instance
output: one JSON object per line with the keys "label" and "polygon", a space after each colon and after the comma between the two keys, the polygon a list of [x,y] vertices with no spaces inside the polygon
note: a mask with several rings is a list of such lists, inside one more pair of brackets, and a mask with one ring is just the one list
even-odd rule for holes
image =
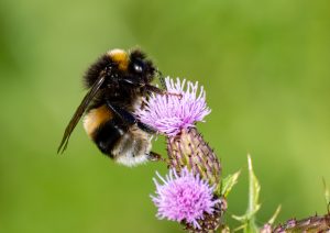
{"label": "smooth blurred green background behind the bee and thistle", "polygon": [[[205,86],[212,113],[199,129],[224,175],[242,169],[228,217],[246,208],[248,153],[262,185],[260,223],[279,203],[277,222],[324,213],[329,12],[326,0],[1,0],[0,231],[180,231],[154,218],[148,198],[164,165],[118,166],[81,124],[56,155],[88,65],[134,46],[163,74]],[[164,147],[163,138],[154,143]]]}

